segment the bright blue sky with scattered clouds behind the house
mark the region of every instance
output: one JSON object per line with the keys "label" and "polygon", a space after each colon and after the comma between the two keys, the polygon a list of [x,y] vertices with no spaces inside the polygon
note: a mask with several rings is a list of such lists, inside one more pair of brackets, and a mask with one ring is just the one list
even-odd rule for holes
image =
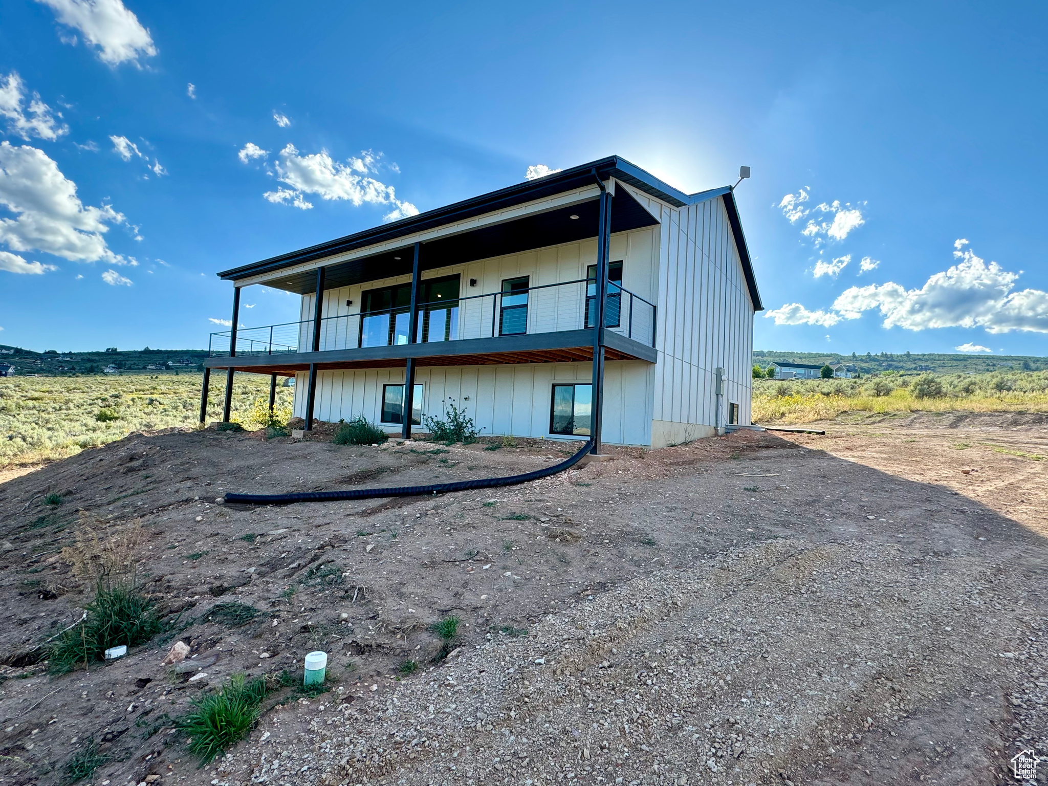
{"label": "bright blue sky with scattered clouds behind the house", "polygon": [[617,153],[752,168],[757,349],[1048,355],[1046,6],[869,6],[5,0],[0,344],[203,347],[220,269]]}

